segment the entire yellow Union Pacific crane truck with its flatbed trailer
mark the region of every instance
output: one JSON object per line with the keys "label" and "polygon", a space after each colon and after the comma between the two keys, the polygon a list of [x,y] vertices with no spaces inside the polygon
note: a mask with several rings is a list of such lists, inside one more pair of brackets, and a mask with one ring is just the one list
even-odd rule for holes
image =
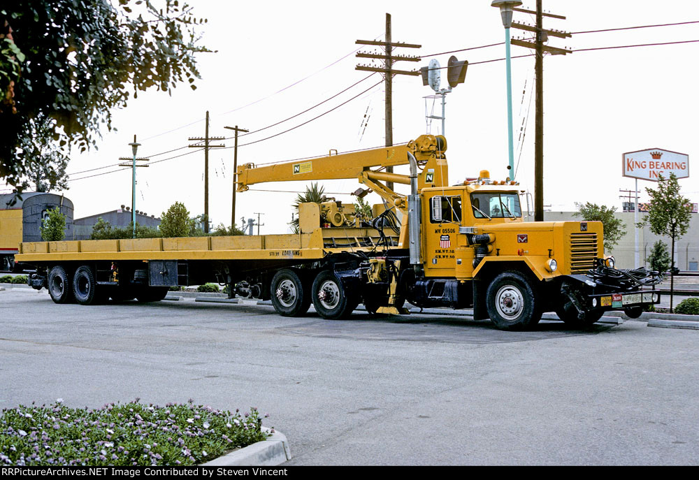
{"label": "entire yellow Union Pacific crane truck with its flatbed trailer", "polygon": [[[608,310],[638,317],[659,302],[646,289],[661,281],[657,272],[617,270],[605,258],[600,222],[525,222],[516,182],[492,181],[482,170],[449,186],[446,150],[444,137],[424,135],[407,145],[238,168],[238,191],[356,178],[384,201],[373,219],[340,202],[305,203],[297,234],[29,242],[17,261],[36,268],[29,284],[47,287],[56,303],[83,305],[161,300],[169,286],[218,281],[231,294],[271,299],[284,316],[303,316],[311,303],[326,319],[348,317],[359,303],[371,314],[407,314],[408,301],[473,307],[475,319],[519,329],[543,312],[583,327]],[[410,175],[383,171],[405,164]],[[410,194],[386,182],[409,184]]]}

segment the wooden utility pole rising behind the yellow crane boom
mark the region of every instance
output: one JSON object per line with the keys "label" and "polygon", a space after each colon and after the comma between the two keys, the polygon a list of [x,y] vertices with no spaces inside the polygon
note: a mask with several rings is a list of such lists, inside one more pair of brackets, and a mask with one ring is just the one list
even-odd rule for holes
{"label": "wooden utility pole rising behind the yellow crane boom", "polygon": [[[384,61],[383,68],[377,68],[370,65],[357,65],[354,67],[355,70],[362,70],[368,72],[380,72],[384,74],[385,78],[385,118],[386,118],[386,146],[393,146],[393,85],[391,83],[393,75],[420,75],[419,71],[404,71],[404,70],[394,70],[394,61],[420,61],[420,57],[405,57],[403,55],[394,55],[393,49],[397,47],[401,48],[420,48],[422,45],[415,45],[411,43],[400,43],[391,41],[391,14],[386,14],[386,41],[372,41],[372,40],[357,40],[354,42],[357,45],[379,45],[384,47],[384,54],[378,53],[367,53],[358,52],[356,57],[359,58],[370,58],[370,59],[381,59]],[[393,167],[387,167],[386,171],[388,173],[393,173]],[[386,182],[386,186],[393,190],[393,182]]]}

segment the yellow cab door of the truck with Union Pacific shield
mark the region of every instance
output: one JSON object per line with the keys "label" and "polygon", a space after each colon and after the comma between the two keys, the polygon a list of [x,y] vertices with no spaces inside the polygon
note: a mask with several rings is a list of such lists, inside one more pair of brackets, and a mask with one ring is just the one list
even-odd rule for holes
{"label": "yellow cab door of the truck with Union Pacific shield", "polygon": [[456,235],[463,217],[461,191],[424,192],[423,259],[426,277],[454,277]]}

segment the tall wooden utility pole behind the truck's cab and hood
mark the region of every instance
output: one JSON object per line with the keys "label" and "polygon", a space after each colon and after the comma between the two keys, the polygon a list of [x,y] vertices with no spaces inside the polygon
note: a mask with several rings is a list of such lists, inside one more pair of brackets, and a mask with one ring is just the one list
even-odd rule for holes
{"label": "tall wooden utility pole behind the truck's cab and hood", "polygon": [[[536,24],[526,24],[512,22],[512,27],[520,30],[534,32],[535,42],[512,38],[510,43],[520,47],[532,48],[536,51],[536,60],[534,65],[536,76],[536,126],[534,140],[534,221],[544,221],[544,52],[553,55],[565,55],[572,53],[572,50],[565,48],[549,47],[544,45],[548,41],[549,36],[559,38],[569,38],[570,33],[560,30],[546,30],[542,27],[543,17],[558,18],[565,20],[563,15],[554,15],[552,13],[544,13],[542,10],[542,0],[536,0],[536,11],[526,10],[526,8],[512,8],[516,12],[535,13]],[[514,172],[513,172],[514,173]]]}

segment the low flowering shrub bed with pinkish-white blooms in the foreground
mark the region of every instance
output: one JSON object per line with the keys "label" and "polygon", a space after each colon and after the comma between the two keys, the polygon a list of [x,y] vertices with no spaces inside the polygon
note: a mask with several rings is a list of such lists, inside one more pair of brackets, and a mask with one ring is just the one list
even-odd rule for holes
{"label": "low flowering shrub bed with pinkish-white blooms in the foreground", "polygon": [[257,409],[135,402],[101,409],[14,407],[0,413],[2,465],[198,465],[266,439]]}

